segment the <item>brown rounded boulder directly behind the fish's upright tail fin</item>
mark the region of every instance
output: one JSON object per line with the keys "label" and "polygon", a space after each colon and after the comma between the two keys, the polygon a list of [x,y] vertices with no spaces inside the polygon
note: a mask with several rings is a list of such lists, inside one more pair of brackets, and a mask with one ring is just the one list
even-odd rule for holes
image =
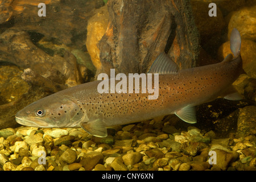
{"label": "brown rounded boulder directly behind the fish's upright tail fin", "polygon": [[[241,32],[240,32],[241,34]],[[256,43],[252,40],[242,39],[241,57],[243,61],[243,70],[252,78],[256,78]],[[230,50],[230,42],[225,42],[218,49],[218,59],[223,60],[225,56],[232,53]]]}

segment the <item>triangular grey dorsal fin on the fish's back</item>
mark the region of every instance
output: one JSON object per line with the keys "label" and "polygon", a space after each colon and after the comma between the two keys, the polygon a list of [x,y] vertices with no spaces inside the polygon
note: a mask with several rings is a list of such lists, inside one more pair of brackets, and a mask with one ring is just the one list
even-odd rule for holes
{"label": "triangular grey dorsal fin on the fish's back", "polygon": [[174,61],[172,61],[166,53],[162,52],[155,59],[154,63],[151,65],[151,68],[147,73],[167,74],[176,73],[177,71],[179,71],[179,67],[177,66],[177,64],[174,63]]}

